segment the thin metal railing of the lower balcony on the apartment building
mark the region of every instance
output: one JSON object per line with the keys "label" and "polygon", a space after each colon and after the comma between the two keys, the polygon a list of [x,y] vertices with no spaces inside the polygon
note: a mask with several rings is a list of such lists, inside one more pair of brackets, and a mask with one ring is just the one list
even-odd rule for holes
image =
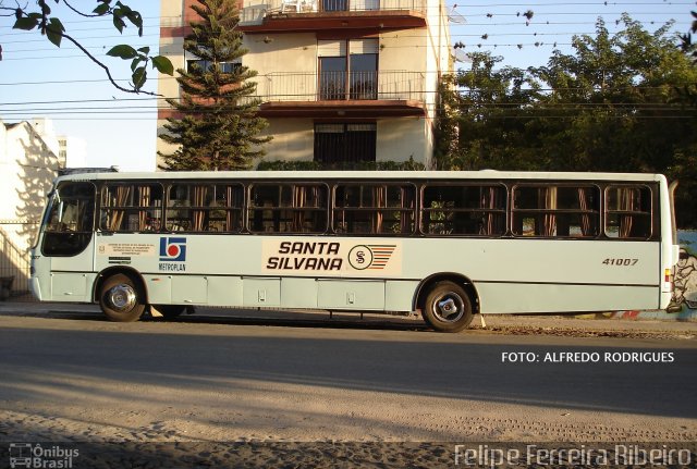
{"label": "thin metal railing of the lower balcony on the apartment building", "polygon": [[424,101],[424,74],[404,71],[257,75],[256,98],[269,101]]}

